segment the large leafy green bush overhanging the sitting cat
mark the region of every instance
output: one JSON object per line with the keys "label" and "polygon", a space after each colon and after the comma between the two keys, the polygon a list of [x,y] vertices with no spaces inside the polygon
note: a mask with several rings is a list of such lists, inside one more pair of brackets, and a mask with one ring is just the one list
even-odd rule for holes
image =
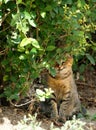
{"label": "large leafy green bush overhanging the sitting cat", "polygon": [[96,0],[0,0],[1,96],[19,99],[67,54],[95,65],[95,7]]}

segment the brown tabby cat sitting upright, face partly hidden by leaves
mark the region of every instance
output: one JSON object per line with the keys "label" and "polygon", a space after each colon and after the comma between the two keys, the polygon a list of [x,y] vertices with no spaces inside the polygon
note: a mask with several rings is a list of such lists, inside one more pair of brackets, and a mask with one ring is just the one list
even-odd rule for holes
{"label": "brown tabby cat sitting upright, face partly hidden by leaves", "polygon": [[66,118],[79,112],[81,103],[72,72],[73,58],[56,66],[56,76],[47,75],[47,84],[54,93],[51,98],[51,118],[65,122]]}

